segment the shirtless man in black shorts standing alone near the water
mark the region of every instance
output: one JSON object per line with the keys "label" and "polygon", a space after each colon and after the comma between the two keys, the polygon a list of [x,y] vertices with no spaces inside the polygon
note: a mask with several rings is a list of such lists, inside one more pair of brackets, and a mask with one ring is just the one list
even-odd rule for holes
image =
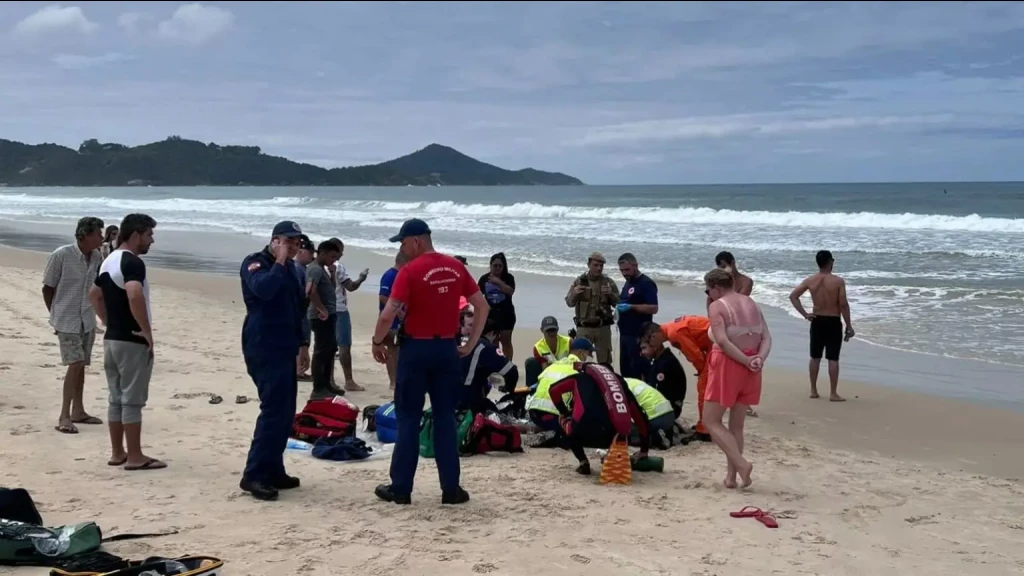
{"label": "shirtless man in black shorts standing alone near the water", "polygon": [[[808,277],[790,293],[790,301],[811,323],[811,362],[808,371],[811,376],[811,398],[818,398],[818,369],[821,367],[821,353],[828,360],[828,380],[831,394],[828,400],[846,402],[837,394],[839,387],[839,351],[844,341],[853,337],[850,323],[850,303],[846,299],[846,281],[831,273],[836,260],[828,250],[820,250],[814,257],[818,262],[818,273]],[[807,314],[800,297],[810,290],[813,312]],[[846,322],[846,331],[843,322]]]}

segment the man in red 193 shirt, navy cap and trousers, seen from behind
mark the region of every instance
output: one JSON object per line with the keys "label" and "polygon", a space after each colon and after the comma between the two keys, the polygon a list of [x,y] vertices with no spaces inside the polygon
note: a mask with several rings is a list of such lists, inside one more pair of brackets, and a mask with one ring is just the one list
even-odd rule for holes
{"label": "man in red 193 shirt, navy cap and trousers, seen from behind", "polygon": [[434,251],[430,227],[419,218],[406,220],[391,242],[401,243],[406,265],[391,285],[391,296],[377,319],[373,355],[387,362],[384,346],[391,321],[404,308],[403,335],[395,372],[394,409],[398,439],[391,455],[391,484],[374,493],[395,504],[412,503],[413,479],[420,459],[420,421],[430,395],[434,419],[434,457],[441,483],[441,503],[462,504],[469,493],[459,485],[459,447],[455,407],[461,385],[459,358],[469,355],[483,331],[474,322],[465,344],[459,345],[459,298],[466,297],[474,313],[486,318],[488,306],[465,264]]}

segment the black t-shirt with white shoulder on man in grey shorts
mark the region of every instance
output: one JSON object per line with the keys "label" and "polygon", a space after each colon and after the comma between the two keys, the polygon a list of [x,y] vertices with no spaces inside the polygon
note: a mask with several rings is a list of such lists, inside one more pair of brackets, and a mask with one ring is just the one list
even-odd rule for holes
{"label": "black t-shirt with white shoulder on man in grey shorts", "polygon": [[106,307],[106,332],[104,340],[122,340],[126,342],[146,343],[145,338],[136,336],[141,328],[131,313],[128,302],[128,291],[125,286],[129,282],[142,284],[142,294],[145,295],[145,314],[153,322],[150,312],[150,283],[145,280],[145,262],[127,250],[115,250],[99,264],[99,276],[96,286],[103,292],[103,305]]}

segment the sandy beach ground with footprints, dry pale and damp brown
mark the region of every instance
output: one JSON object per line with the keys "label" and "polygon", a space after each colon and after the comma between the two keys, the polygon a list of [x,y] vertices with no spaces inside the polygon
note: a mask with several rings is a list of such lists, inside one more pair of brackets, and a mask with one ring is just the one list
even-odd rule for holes
{"label": "sandy beach ground with footprints, dry pale and damp brown", "polygon": [[[238,488],[258,411],[233,403],[256,396],[240,352],[239,283],[184,272],[151,274],[157,364],[143,444],[169,467],[110,467],[105,426],[53,430],[63,369],[40,296],[44,263],[0,248],[0,485],[27,488],[49,525],[179,531],[104,546],[119,556],[211,554],[230,575],[1024,572],[1024,416],[849,382],[845,405],[810,401],[803,374],[770,369],[762,417],[748,426],[749,492],[721,486],[724,457],[707,444],[662,454],[665,474],[634,475],[631,487],[578,477],[568,452],[527,449],[464,458],[473,499],[460,507],[439,504],[435,466],[421,460],[413,505],[394,506],[373,495],[386,459],[289,452],[302,488],[257,502]],[[349,301],[368,392],[348,396],[381,403],[387,378],[369,346],[376,297]],[[537,332],[517,336],[521,359]],[[97,345],[86,408],[105,417],[101,359]],[[300,383],[300,405],[308,393]],[[210,405],[210,394],[225,402]],[[746,505],[777,512],[780,527],[729,518]]]}

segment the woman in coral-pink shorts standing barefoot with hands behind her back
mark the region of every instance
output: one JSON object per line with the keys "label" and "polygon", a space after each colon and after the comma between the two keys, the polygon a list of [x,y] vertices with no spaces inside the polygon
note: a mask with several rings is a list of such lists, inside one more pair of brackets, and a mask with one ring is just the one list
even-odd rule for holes
{"label": "woman in coral-pink shorts standing barefoot with hands behind her back", "polygon": [[[709,335],[715,342],[708,355],[705,426],[725,452],[725,487],[735,488],[739,475],[746,488],[754,465],[743,458],[743,420],[746,409],[761,402],[761,368],[771,352],[771,333],[758,304],[733,290],[732,282],[724,270],[705,275],[705,292],[713,300]],[[728,427],[722,424],[727,409]]]}

